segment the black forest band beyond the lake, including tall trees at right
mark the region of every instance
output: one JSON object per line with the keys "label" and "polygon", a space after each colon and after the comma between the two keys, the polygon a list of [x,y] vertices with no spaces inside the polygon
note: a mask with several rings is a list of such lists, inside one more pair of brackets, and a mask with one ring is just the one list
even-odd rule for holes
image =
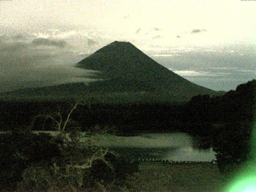
{"label": "black forest band beyond the lake, including tall trees at right", "polygon": [[[115,128],[117,134],[140,132],[186,132],[197,138],[201,148],[214,147],[221,170],[227,164],[248,159],[255,120],[256,80],[237,86],[223,96],[194,96],[182,104],[86,104],[78,106],[71,118],[86,131],[98,125]],[[68,115],[68,102],[0,102],[0,129],[14,130],[31,125],[32,130],[49,130],[53,121],[35,117],[57,112]],[[54,116],[55,115],[55,116]],[[72,125],[70,125],[72,126]],[[231,163],[230,163],[231,162]]]}

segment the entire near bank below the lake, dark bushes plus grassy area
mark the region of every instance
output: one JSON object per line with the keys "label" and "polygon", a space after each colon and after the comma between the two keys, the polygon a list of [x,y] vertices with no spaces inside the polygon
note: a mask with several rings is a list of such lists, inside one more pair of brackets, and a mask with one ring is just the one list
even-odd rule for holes
{"label": "entire near bank below the lake, dark bushes plus grassy area", "polygon": [[65,145],[61,135],[29,131],[2,134],[1,140],[4,192],[221,192],[226,184],[214,164],[135,164],[107,151],[93,159],[99,149],[93,145],[74,139]]}

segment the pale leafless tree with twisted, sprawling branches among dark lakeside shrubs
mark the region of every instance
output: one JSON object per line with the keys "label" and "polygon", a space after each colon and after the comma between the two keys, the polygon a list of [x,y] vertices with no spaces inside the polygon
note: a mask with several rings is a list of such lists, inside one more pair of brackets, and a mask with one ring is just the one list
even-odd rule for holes
{"label": "pale leafless tree with twisted, sprawling branches among dark lakeside shrubs", "polygon": [[[68,148],[70,145],[70,142],[72,142],[72,138],[71,140],[68,139],[67,137],[67,126],[70,123],[75,122],[75,120],[73,120],[71,118],[72,113],[74,112],[74,110],[76,110],[78,108],[78,106],[84,106],[86,103],[84,102],[84,100],[78,100],[78,102],[76,102],[74,104],[74,106],[71,108],[70,111],[68,111],[68,114],[64,117],[64,115],[62,114],[62,112],[60,110],[58,110],[58,112],[55,113],[47,113],[47,114],[38,114],[37,116],[34,117],[34,120],[32,121],[31,124],[31,128],[33,127],[34,122],[36,121],[37,118],[44,118],[44,124],[46,122],[47,119],[51,119],[57,126],[56,131],[63,136],[63,141],[64,141],[64,148],[66,149],[72,149],[72,148]],[[72,147],[74,148],[74,151],[76,149],[78,149],[78,151],[83,152],[82,148],[90,148],[89,146],[91,145],[91,141],[94,140],[96,141],[94,138],[92,138],[92,136],[89,134],[89,136],[87,137],[87,140],[85,140],[84,142],[81,142],[79,139],[75,141],[75,145],[74,142],[72,144]],[[65,149],[64,149],[65,151]],[[70,173],[70,170],[76,170],[76,176],[81,176],[82,177],[82,172],[83,170],[92,168],[92,164],[94,161],[96,160],[100,160],[102,162],[104,162],[108,167],[110,167],[112,169],[112,165],[110,164],[110,162],[108,162],[105,159],[106,154],[111,153],[108,149],[102,149],[101,147],[96,147],[95,150],[91,153],[90,155],[86,156],[84,155],[83,158],[81,158],[80,156],[78,157],[79,159],[74,159],[76,157],[72,156],[72,152],[73,150],[66,150],[67,152],[67,158],[69,159],[68,162],[65,164],[65,172],[60,173],[60,167],[57,166],[56,163],[54,163],[51,168],[54,171],[54,174],[57,176],[59,174],[61,174],[62,176],[66,176],[66,174]],[[70,152],[70,153],[69,153]],[[114,154],[113,154],[114,155]],[[73,161],[74,160],[74,161]],[[82,181],[77,181],[76,183],[72,182],[72,180],[68,180],[68,184],[70,186],[70,189],[72,191],[78,191],[78,188],[80,188],[83,183]],[[51,185],[51,184],[49,184]],[[52,186],[53,187],[53,186]]]}

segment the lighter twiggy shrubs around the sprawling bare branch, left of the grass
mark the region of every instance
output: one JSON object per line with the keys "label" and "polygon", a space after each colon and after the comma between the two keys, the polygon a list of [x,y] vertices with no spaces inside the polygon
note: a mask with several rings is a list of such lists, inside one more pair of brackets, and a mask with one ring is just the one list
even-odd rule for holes
{"label": "lighter twiggy shrubs around the sprawling bare branch, left of the grass", "polygon": [[73,132],[70,138],[60,147],[62,158],[26,168],[18,189],[31,192],[126,190],[124,181],[138,171],[138,165],[94,145],[90,137],[88,142],[80,142],[78,132]]}

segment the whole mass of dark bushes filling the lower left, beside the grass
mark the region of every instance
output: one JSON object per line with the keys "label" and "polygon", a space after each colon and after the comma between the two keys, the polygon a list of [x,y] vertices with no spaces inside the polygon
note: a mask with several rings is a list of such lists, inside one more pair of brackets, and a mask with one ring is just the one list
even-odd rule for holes
{"label": "whole mass of dark bushes filling the lower left, beside the grass", "polygon": [[138,172],[107,149],[79,141],[79,132],[57,136],[29,130],[0,134],[0,191],[126,191],[126,180]]}

